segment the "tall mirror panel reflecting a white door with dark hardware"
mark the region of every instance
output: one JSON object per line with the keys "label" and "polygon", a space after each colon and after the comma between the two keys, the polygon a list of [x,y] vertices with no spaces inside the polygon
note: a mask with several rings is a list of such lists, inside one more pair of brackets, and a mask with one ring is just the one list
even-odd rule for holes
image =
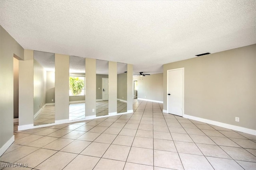
{"label": "tall mirror panel reflecting a white door with dark hardware", "polygon": [[108,115],[108,61],[96,60],[96,116]]}

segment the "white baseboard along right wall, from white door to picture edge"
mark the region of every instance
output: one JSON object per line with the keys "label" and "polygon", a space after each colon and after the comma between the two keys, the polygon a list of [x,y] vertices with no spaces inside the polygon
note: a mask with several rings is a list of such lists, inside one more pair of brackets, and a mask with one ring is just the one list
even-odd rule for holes
{"label": "white baseboard along right wall, from white door to picture edge", "polygon": [[201,118],[201,117],[195,117],[195,116],[191,116],[191,115],[185,115],[184,114],[184,117],[188,118],[188,119],[208,123],[208,124],[211,124],[211,125],[224,127],[224,128],[227,128],[227,129],[232,129],[232,130],[235,130],[235,131],[240,131],[240,132],[244,132],[244,133],[249,133],[251,135],[256,135],[256,130],[253,130],[253,129],[248,129],[248,128],[245,128],[245,127],[230,125],[230,124],[226,124],[226,123],[222,123],[222,122],[218,122],[218,121],[213,121],[213,120],[209,120],[209,119],[204,119],[204,118]]}

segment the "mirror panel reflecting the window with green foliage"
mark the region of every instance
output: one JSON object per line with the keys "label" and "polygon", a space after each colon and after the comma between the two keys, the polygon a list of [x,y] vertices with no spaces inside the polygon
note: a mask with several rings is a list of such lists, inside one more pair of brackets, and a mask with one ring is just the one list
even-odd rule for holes
{"label": "mirror panel reflecting the window with green foliage", "polygon": [[69,120],[85,119],[85,58],[69,57]]}

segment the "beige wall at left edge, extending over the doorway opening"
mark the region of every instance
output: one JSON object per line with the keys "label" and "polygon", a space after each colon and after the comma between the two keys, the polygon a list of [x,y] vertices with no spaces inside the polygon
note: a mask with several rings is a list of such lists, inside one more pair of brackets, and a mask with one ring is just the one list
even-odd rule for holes
{"label": "beige wall at left edge, extending over the doorway opening", "polygon": [[0,149],[13,137],[13,57],[24,49],[0,25]]}

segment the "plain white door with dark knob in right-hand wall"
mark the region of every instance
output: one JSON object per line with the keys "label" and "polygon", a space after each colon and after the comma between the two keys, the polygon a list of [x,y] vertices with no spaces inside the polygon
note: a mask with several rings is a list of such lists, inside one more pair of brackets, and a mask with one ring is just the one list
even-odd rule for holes
{"label": "plain white door with dark knob in right-hand wall", "polygon": [[184,68],[167,70],[167,112],[183,116]]}

